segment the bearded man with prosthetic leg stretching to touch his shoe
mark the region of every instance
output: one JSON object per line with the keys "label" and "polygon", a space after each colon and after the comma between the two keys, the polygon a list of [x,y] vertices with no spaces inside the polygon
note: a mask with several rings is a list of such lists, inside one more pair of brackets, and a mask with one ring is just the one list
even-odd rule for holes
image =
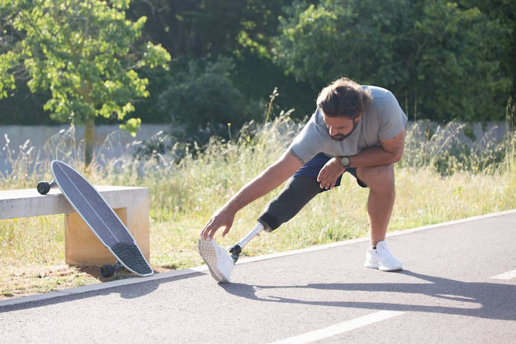
{"label": "bearded man with prosthetic leg stretching to touch his shoe", "polygon": [[230,250],[234,261],[252,237],[287,222],[315,195],[338,186],[345,172],[369,188],[370,247],[365,267],[402,269],[385,244],[385,233],[394,206],[394,163],[402,157],[407,116],[387,89],[361,86],[348,78],[325,87],[316,104],[315,113],[286,152],[215,211],[204,226],[199,249],[217,281],[229,281],[233,262],[212,240],[213,235],[224,227],[224,237],[237,211],[290,178],[259,216],[257,226]]}

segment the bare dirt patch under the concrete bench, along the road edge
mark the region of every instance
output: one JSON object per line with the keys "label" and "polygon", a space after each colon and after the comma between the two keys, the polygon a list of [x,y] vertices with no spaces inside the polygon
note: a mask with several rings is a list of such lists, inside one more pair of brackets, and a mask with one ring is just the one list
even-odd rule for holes
{"label": "bare dirt patch under the concrete bench, along the road edge", "polygon": [[[152,267],[155,273],[171,271]],[[98,266],[8,266],[0,275],[0,300],[15,299],[106,281],[134,277],[125,269],[117,270],[113,277],[105,278]]]}

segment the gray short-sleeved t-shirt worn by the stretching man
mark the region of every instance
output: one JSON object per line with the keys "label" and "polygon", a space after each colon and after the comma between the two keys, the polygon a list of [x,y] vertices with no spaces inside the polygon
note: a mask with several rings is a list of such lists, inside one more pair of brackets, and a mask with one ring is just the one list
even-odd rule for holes
{"label": "gray short-sleeved t-shirt worn by the stretching man", "polygon": [[308,162],[319,153],[329,157],[355,155],[367,147],[377,146],[380,140],[398,135],[407,123],[407,115],[394,94],[376,86],[362,88],[369,89],[373,99],[350,136],[342,141],[332,139],[323,121],[323,114],[317,109],[289,149],[298,158]]}

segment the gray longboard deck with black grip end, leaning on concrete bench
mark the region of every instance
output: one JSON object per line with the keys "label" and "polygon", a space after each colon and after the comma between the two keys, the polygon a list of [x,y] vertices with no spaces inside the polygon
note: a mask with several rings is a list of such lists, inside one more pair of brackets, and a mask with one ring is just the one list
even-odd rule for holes
{"label": "gray longboard deck with black grip end, leaning on concrete bench", "polygon": [[120,264],[135,275],[153,275],[133,236],[94,186],[64,162],[53,160],[50,166],[68,202]]}

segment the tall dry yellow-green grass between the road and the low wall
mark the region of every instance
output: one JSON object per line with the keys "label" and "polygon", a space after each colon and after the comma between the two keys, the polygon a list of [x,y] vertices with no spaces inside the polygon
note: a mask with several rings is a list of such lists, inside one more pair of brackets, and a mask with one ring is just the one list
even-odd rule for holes
{"label": "tall dry yellow-green grass between the road and the low wall", "polygon": [[[175,144],[169,153],[151,151],[150,158],[127,154],[107,162],[98,157],[87,169],[80,159],[80,142],[71,139],[73,127],[52,138],[45,149],[93,184],[149,187],[151,265],[188,268],[202,264],[197,238],[208,217],[277,159],[301,128],[287,115],[260,129],[251,123],[230,142],[214,138],[203,149]],[[478,144],[464,144],[463,130],[453,122],[443,127],[418,122],[409,127],[404,158],[396,165],[397,195],[389,230],[516,208],[513,133],[498,144],[487,136]],[[3,152],[10,154],[7,145]],[[32,188],[38,180],[52,179],[50,162],[38,154],[28,142],[19,155],[9,155],[12,172],[3,175],[0,189]],[[217,242],[229,246],[245,235],[278,191],[237,213],[233,229]],[[367,189],[353,178],[343,178],[340,187],[317,196],[275,233],[251,241],[244,254],[265,255],[363,237],[368,234],[366,206]],[[62,215],[0,222],[0,297],[103,281],[86,268],[65,266],[63,222]]]}

